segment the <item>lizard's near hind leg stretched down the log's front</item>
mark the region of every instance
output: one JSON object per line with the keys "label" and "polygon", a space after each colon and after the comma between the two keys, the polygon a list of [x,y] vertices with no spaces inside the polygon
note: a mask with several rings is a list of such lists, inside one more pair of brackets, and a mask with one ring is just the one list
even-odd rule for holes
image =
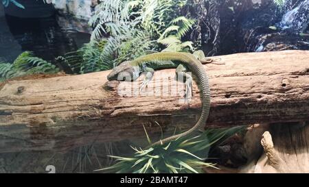
{"label": "lizard's near hind leg stretched down the log's front", "polygon": [[183,64],[179,64],[176,68],[177,81],[185,82],[185,103],[189,103],[192,99],[192,75],[187,73],[187,68]]}

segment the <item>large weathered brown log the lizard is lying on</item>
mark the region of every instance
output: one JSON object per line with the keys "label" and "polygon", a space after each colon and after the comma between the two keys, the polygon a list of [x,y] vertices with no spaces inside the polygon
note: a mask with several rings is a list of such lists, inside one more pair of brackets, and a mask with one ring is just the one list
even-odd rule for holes
{"label": "large weathered brown log the lizard is lying on", "polygon": [[[211,112],[207,127],[308,121],[309,51],[240,53],[207,64]],[[144,137],[194,125],[198,86],[181,103],[174,70],[157,71],[148,88],[107,82],[109,71],[9,81],[0,86],[0,152],[66,150],[89,143]],[[179,87],[180,85],[180,87]],[[161,127],[159,127],[159,125]]]}

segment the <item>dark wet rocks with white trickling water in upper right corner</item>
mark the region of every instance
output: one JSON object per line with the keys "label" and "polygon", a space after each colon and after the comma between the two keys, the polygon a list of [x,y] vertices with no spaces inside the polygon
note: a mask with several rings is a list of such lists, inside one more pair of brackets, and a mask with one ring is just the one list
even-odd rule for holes
{"label": "dark wet rocks with white trickling water in upper right corner", "polygon": [[[308,13],[309,0],[288,0],[282,9],[269,5],[256,14],[248,12],[238,36],[238,41],[244,38],[241,49],[247,52],[309,49]],[[253,15],[255,20],[251,18]]]}

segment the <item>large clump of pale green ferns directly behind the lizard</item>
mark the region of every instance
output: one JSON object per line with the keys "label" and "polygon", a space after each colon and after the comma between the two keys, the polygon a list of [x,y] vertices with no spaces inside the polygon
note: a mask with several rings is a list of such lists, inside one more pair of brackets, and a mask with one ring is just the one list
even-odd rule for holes
{"label": "large clump of pale green ferns directly behind the lizard", "polygon": [[125,60],[161,49],[161,45],[176,51],[193,49],[190,42],[181,45],[181,38],[194,21],[184,16],[174,19],[171,12],[178,3],[173,0],[101,1],[89,24],[94,27],[91,41],[104,40],[104,45],[100,49],[98,44],[89,45],[95,48],[95,53],[85,53],[91,51],[86,48],[80,51],[80,73],[113,68]]}

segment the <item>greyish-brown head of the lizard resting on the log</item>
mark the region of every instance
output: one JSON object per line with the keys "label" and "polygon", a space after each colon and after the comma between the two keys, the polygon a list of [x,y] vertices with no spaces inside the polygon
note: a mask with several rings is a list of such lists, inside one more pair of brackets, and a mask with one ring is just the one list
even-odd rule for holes
{"label": "greyish-brown head of the lizard resting on the log", "polygon": [[119,66],[115,66],[113,71],[107,75],[108,81],[132,81],[139,76],[137,67],[132,66],[130,61],[122,62]]}

